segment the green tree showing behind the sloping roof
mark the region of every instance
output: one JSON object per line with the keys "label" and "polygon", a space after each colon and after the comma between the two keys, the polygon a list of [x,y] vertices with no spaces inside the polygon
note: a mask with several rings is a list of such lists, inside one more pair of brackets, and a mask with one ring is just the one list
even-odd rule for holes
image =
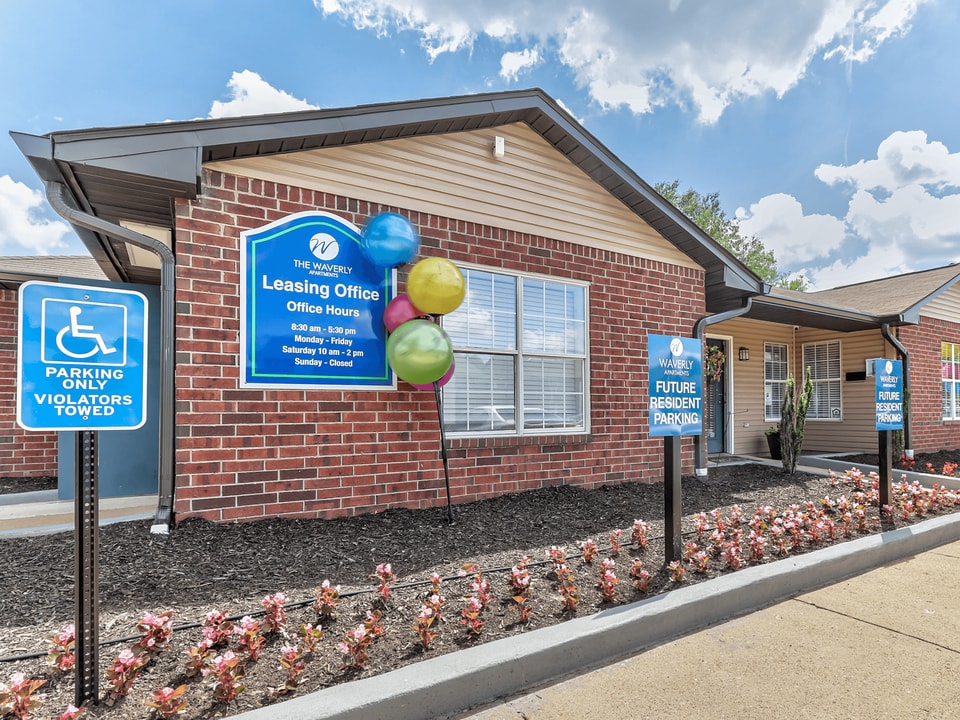
{"label": "green tree showing behind the sloping roof", "polygon": [[746,237],[740,232],[740,223],[735,218],[727,217],[720,207],[719,193],[701,195],[692,188],[681,192],[679,180],[657,183],[654,189],[765,283],[788,290],[806,290],[807,283],[802,277],[790,278],[780,272],[773,250],[766,247],[756,235]]}

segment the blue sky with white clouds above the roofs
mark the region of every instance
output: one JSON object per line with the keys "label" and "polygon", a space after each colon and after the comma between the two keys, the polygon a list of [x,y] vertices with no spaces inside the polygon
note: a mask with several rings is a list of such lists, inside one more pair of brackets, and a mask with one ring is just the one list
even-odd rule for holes
{"label": "blue sky with white clouds above the roofs", "polygon": [[955,0],[2,0],[0,255],[84,252],[7,132],[540,87],[815,289],[960,260]]}

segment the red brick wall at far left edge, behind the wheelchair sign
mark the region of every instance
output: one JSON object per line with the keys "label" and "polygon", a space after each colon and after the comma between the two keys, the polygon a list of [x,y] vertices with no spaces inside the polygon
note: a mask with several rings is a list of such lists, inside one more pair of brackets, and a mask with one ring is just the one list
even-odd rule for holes
{"label": "red brick wall at far left edge, behind the wheelchair sign", "polygon": [[17,291],[0,290],[0,477],[57,474],[57,434],[17,425]]}

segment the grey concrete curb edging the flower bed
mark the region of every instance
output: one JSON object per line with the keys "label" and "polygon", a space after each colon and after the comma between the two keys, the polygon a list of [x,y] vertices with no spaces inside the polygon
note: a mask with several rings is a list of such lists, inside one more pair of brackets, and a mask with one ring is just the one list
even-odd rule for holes
{"label": "grey concrete curb edging the flower bed", "polygon": [[960,540],[960,513],[749,567],[649,600],[335,685],[234,717],[448,717],[956,540]]}

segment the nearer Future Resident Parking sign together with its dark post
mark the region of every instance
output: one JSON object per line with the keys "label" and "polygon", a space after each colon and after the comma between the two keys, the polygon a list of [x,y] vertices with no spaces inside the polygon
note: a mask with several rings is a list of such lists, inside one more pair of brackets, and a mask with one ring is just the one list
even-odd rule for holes
{"label": "nearer Future Resident Parking sign together with its dark post", "polygon": [[680,438],[703,432],[703,352],[700,341],[648,337],[650,435],[663,437],[664,555],[683,556]]}

